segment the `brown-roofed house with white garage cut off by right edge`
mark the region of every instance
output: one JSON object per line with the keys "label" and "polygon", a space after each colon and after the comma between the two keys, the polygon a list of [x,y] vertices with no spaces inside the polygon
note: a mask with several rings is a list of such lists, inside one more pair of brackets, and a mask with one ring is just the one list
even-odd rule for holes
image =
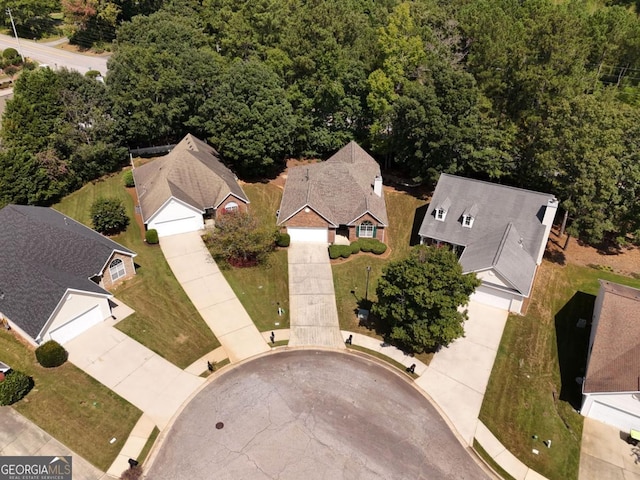
{"label": "brown-roofed house with white garage cut off by right edge", "polygon": [[600,280],[588,352],[580,413],[640,429],[640,290]]}

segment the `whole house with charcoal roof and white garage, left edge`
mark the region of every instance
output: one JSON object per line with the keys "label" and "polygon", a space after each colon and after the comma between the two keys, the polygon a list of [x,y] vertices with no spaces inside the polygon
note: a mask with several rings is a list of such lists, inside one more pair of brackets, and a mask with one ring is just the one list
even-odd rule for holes
{"label": "whole house with charcoal roof and white garage, left edge", "polygon": [[0,318],[27,341],[63,344],[111,316],[106,289],[135,253],[45,207],[0,210]]}

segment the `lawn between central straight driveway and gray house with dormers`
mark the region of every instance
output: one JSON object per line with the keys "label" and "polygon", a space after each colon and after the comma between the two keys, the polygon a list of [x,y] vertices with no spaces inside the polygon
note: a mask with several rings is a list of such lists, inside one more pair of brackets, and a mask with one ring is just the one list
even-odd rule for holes
{"label": "lawn between central straight driveway and gray house with dormers", "polygon": [[[389,254],[385,253],[380,257],[359,253],[332,266],[340,328],[379,338],[381,338],[379,333],[374,329],[359,324],[358,309],[368,309],[370,302],[377,300],[376,286],[385,265],[388,262],[403,259],[409,254],[412,232],[415,233],[414,225],[417,222],[419,226],[422,222],[423,207],[427,203],[408,193],[386,189],[385,200],[389,217],[385,243],[390,249]],[[371,267],[368,292],[367,267]],[[368,302],[365,297],[368,298]]]}

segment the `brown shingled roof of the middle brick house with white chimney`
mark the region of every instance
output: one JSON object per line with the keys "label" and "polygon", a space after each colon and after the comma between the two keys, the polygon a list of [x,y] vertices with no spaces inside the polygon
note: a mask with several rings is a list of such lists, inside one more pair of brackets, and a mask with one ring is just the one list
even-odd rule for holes
{"label": "brown shingled roof of the middle brick house with white chimney", "polygon": [[365,213],[386,226],[384,195],[373,192],[379,176],[378,163],[353,141],[324,162],[291,168],[278,225],[308,206],[335,226],[349,225]]}

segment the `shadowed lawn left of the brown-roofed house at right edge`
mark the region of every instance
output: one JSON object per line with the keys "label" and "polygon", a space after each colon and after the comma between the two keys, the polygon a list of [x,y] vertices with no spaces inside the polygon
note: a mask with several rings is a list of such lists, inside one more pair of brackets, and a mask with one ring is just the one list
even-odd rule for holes
{"label": "shadowed lawn left of the brown-roofed house at right edge", "polygon": [[543,262],[527,315],[507,321],[480,412],[511,453],[552,480],[578,477],[583,417],[575,378],[585,374],[590,331],[576,324],[591,319],[599,278],[640,287],[611,273]]}

